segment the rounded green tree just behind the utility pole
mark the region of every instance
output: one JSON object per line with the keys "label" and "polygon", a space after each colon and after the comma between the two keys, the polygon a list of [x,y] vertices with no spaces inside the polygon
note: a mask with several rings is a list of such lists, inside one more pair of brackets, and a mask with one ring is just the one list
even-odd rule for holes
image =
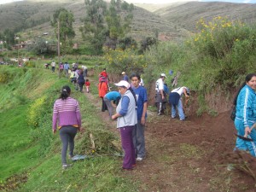
{"label": "rounded green tree just behind the utility pole", "polygon": [[70,43],[75,37],[75,32],[73,30],[73,13],[64,8],[55,10],[53,20],[51,20],[51,26],[55,27],[56,37],[58,36],[58,22],[60,26],[60,41],[63,43],[63,47],[66,48],[68,40]]}

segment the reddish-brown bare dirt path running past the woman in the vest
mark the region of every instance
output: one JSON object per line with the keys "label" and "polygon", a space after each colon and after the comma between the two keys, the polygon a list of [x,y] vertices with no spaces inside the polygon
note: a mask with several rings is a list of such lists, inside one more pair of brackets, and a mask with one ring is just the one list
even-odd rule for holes
{"label": "reddish-brown bare dirt path running past the woman in the vest", "polygon": [[[101,100],[91,94],[84,95],[96,103],[99,118],[115,128],[116,122],[109,119],[108,112],[100,112]],[[132,172],[124,174],[141,183],[138,191],[256,191],[252,177],[254,168],[256,171],[255,160],[245,154],[245,160],[241,161],[237,157],[240,154],[232,153],[236,143],[234,132],[229,113],[215,118],[189,116],[181,122],[169,115],[148,112],[147,156]],[[237,160],[243,172],[228,171],[228,163]],[[247,168],[252,172],[245,173]]]}

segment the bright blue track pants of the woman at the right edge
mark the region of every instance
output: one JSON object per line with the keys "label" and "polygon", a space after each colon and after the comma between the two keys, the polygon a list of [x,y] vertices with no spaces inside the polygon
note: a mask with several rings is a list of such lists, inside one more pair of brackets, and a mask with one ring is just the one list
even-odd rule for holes
{"label": "bright blue track pants of the woman at the right edge", "polygon": [[[253,125],[250,125],[250,127]],[[236,131],[237,131],[237,135],[240,136],[244,136],[245,132],[244,132],[244,125],[241,119],[235,119],[235,127],[236,127]],[[253,142],[249,142],[249,141],[245,141],[242,140],[241,138],[236,138],[236,148],[240,149],[240,150],[244,150],[244,151],[249,151],[250,154],[252,154],[254,157],[256,156],[256,130],[253,129],[250,133],[250,135],[248,135],[249,138],[253,139]],[[235,150],[236,150],[235,148]]]}

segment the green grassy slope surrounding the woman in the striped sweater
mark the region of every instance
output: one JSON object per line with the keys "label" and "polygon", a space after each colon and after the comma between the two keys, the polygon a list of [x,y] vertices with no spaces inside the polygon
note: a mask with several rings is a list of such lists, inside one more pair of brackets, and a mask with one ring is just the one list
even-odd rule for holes
{"label": "green grassy slope surrounding the woman in the striped sweater", "polygon": [[[3,71],[3,68],[1,68]],[[74,163],[65,172],[61,169],[61,141],[58,134],[53,138],[52,147],[45,149],[39,156],[51,137],[50,116],[46,114],[46,127],[32,129],[26,124],[28,107],[36,98],[51,94],[53,100],[59,95],[63,84],[69,84],[67,79],[58,79],[49,70],[29,69],[24,73],[21,68],[9,67],[7,71],[17,74],[14,83],[2,84],[4,97],[20,93],[25,101],[12,101],[12,105],[4,105],[0,113],[0,189],[16,189],[19,191],[132,191],[137,183],[131,183],[127,177],[122,177],[119,171],[119,157],[105,155],[113,153],[110,144],[101,146],[103,142],[117,139],[110,134],[106,125],[98,119],[95,108],[86,100],[83,94],[73,90],[73,97],[79,100],[85,133],[79,133],[76,139],[76,154],[91,154],[89,133],[96,137],[96,156]],[[28,75],[28,74],[31,75]],[[28,77],[30,76],[30,77]],[[26,80],[25,80],[26,79]],[[50,86],[49,86],[50,84]],[[8,87],[11,87],[9,89]],[[21,87],[21,88],[19,88]],[[21,90],[23,91],[21,91]],[[92,92],[96,89],[91,89]],[[96,94],[96,93],[93,93]],[[3,101],[7,102],[8,100]],[[15,102],[16,101],[16,102]],[[3,102],[1,105],[4,104]],[[52,107],[50,107],[52,108]],[[44,123],[43,123],[44,125]],[[45,129],[44,129],[45,128]],[[38,139],[35,139],[38,138]],[[99,147],[100,146],[100,147]],[[11,177],[12,176],[12,177]],[[7,177],[9,182],[4,183]],[[22,181],[22,179],[25,179]]]}

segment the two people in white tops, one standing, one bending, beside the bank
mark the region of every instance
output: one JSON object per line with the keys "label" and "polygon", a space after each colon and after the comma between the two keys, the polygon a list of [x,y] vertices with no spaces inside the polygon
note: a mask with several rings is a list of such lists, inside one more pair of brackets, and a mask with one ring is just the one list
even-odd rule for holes
{"label": "two people in white tops, one standing, one bending, beside the bank", "polygon": [[[185,105],[189,102],[189,88],[182,86],[170,92],[167,84],[165,83],[166,74],[161,73],[160,79],[155,83],[155,104],[157,107],[157,114],[165,114],[166,103],[168,102],[172,108],[172,119],[176,118],[176,111],[180,120],[185,120],[185,114],[183,111],[182,97],[185,96]],[[169,97],[169,99],[167,99]]]}

